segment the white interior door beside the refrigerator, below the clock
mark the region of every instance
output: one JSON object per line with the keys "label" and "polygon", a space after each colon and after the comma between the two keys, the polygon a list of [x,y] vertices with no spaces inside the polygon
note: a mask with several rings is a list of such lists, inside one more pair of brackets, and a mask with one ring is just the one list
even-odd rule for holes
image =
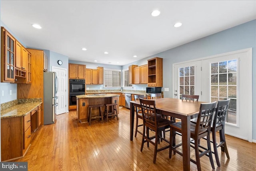
{"label": "white interior door beside the refrigerator, below the clock", "polygon": [[55,107],[55,113],[56,115],[66,113],[66,69],[65,68],[52,68],[52,71],[56,73],[57,82],[56,84],[57,91],[56,95],[58,99],[56,99],[56,103],[58,103],[58,106]]}

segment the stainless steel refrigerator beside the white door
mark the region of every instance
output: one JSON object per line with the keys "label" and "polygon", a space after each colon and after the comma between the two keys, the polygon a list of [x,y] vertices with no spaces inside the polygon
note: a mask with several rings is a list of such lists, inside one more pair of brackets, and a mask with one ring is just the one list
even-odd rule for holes
{"label": "stainless steel refrigerator beside the white door", "polygon": [[55,107],[58,105],[56,95],[58,79],[55,72],[44,72],[44,125],[55,122]]}

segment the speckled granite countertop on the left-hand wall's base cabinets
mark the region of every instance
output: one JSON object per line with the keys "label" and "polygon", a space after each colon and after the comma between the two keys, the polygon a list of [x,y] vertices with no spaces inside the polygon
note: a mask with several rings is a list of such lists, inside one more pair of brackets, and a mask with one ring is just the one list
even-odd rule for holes
{"label": "speckled granite countertop on the left-hand wall's base cabinets", "polygon": [[40,104],[42,104],[42,102],[28,102],[13,105],[11,107],[1,110],[1,119],[25,116]]}

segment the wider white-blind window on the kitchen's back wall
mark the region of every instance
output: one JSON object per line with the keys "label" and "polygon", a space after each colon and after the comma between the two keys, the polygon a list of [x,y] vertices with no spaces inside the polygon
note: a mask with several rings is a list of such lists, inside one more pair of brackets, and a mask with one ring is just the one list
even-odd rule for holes
{"label": "wider white-blind window on the kitchen's back wall", "polygon": [[104,87],[121,87],[121,70],[104,70]]}

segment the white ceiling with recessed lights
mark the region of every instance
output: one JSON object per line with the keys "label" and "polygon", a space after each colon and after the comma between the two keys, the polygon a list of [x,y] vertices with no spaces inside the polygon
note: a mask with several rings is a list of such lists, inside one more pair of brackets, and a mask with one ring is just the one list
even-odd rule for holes
{"label": "white ceiling with recessed lights", "polygon": [[[2,22],[26,46],[120,66],[256,19],[255,0],[0,2]],[[174,28],[176,22],[182,26]]]}

